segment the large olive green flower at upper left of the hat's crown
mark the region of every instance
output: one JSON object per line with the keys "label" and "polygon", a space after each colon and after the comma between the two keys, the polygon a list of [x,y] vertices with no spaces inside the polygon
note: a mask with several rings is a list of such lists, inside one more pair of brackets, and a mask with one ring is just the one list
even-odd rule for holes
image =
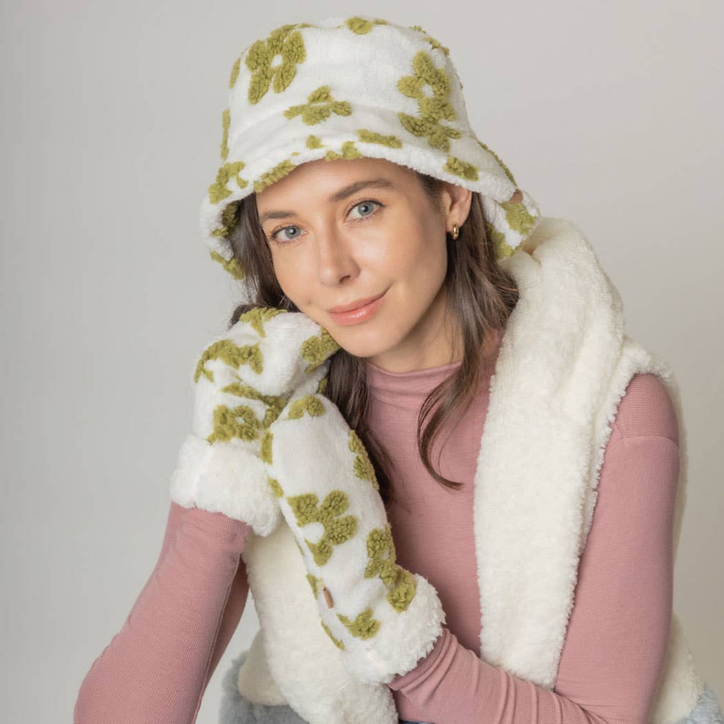
{"label": "large olive green flower at upper left of the hat's crown", "polygon": [[[297,66],[306,59],[304,38],[296,28],[306,24],[282,25],[269,34],[264,41],[256,41],[245,57],[245,64],[251,70],[249,103],[257,104],[271,85],[274,93],[286,90],[297,73]],[[274,58],[282,56],[281,64],[272,68]]]}

